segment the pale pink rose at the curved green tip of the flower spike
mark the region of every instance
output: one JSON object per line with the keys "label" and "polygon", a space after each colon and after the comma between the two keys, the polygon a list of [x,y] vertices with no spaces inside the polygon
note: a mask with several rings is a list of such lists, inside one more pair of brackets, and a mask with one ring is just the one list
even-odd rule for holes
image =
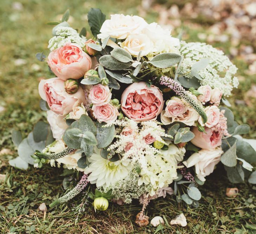
{"label": "pale pink rose at the curved green tip of the flower spike", "polygon": [[217,106],[208,106],[204,109],[204,112],[207,116],[207,122],[203,123],[203,119],[200,116],[198,122],[201,124],[201,126],[211,128],[219,123],[220,110]]}

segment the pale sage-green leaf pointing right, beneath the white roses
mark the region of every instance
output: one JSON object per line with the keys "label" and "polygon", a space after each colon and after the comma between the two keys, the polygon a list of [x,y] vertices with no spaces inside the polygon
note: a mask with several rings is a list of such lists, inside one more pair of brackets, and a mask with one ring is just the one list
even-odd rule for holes
{"label": "pale sage-green leaf pointing right, beneath the white roses", "polygon": [[181,55],[175,53],[162,53],[154,56],[149,61],[153,66],[158,68],[171,67],[181,60]]}

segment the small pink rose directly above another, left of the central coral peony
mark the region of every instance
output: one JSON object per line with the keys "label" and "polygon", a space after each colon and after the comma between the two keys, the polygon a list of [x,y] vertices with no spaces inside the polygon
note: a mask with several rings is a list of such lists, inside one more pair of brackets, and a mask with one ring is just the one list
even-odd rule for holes
{"label": "small pink rose directly above another, left of the central coral peony", "polygon": [[111,92],[108,86],[101,84],[94,85],[89,93],[89,98],[93,104],[102,106],[110,102]]}

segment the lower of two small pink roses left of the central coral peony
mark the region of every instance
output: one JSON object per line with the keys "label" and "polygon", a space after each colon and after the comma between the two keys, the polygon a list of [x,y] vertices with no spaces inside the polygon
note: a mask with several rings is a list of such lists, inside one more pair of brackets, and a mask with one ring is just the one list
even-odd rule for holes
{"label": "lower of two small pink roses left of the central coral peony", "polygon": [[92,106],[92,111],[94,117],[101,123],[110,123],[117,119],[117,116],[119,115],[118,109],[111,105],[110,103],[107,103],[103,106]]}

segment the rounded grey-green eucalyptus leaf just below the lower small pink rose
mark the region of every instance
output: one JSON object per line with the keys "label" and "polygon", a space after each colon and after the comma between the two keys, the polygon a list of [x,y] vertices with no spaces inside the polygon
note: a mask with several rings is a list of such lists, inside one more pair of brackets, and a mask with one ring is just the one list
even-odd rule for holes
{"label": "rounded grey-green eucalyptus leaf just below the lower small pink rose", "polygon": [[96,122],[96,139],[98,141],[97,147],[99,149],[107,147],[113,141],[115,135],[114,125],[111,125],[109,127],[104,127],[104,125],[105,123]]}

